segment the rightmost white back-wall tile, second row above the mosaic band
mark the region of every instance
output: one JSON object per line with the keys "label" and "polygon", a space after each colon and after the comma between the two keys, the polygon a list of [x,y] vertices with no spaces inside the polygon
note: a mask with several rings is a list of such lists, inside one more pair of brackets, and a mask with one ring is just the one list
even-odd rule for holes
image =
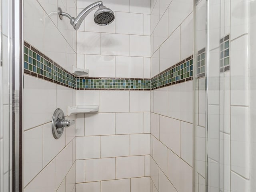
{"label": "rightmost white back-wall tile, second row above the mosaic band", "polygon": [[130,35],[130,56],[150,57],[150,36]]}

